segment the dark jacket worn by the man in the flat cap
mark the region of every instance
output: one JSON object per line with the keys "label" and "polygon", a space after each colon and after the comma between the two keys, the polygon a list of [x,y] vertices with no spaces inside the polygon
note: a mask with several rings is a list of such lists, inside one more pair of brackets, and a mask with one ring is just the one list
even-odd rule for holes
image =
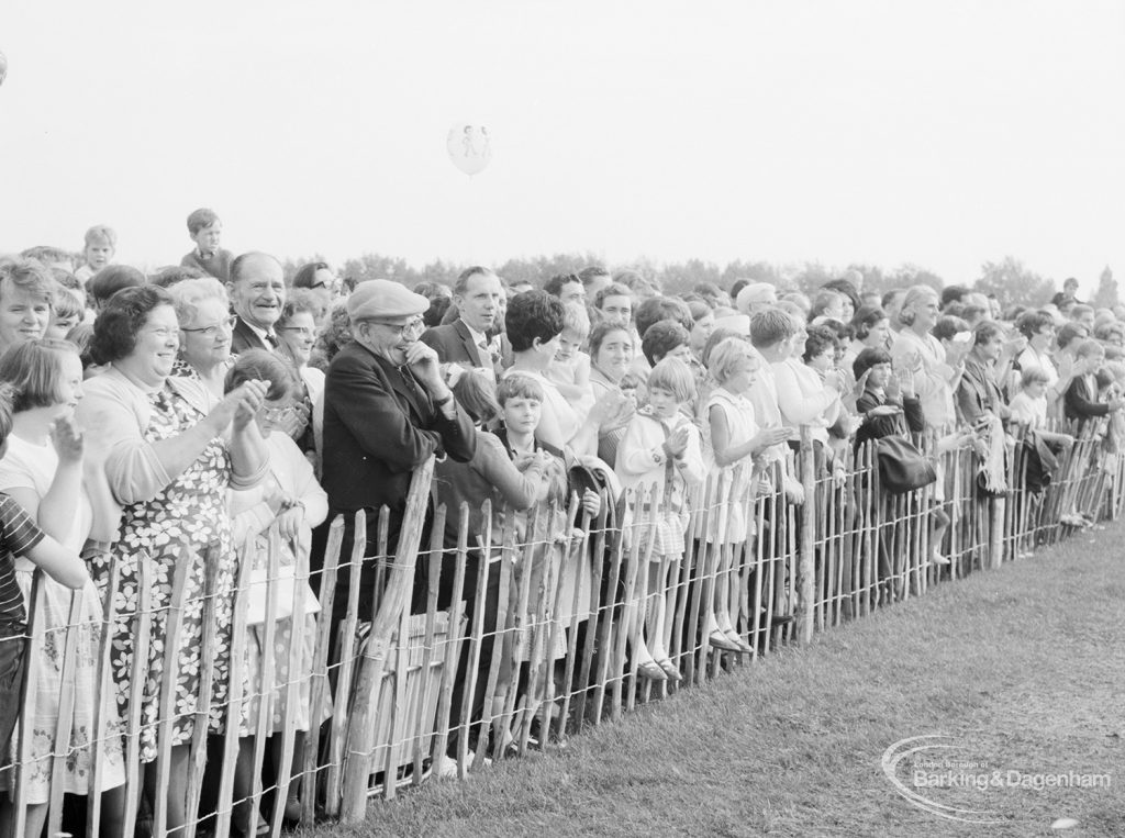
{"label": "dark jacket worn by the man in the flat cap", "polygon": [[392,532],[406,510],[411,475],[430,454],[468,462],[472,422],[447,418],[410,370],[359,343],[332,359],[324,387],[324,488],[332,514],[390,508]]}

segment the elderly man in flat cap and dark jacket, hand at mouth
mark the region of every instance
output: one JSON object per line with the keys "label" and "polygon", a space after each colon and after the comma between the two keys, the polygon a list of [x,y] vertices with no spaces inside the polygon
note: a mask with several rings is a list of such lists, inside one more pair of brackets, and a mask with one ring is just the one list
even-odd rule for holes
{"label": "elderly man in flat cap and dark jacket, hand at mouth", "polygon": [[[343,513],[341,561],[351,555],[357,510],[367,510],[367,550],[377,556],[378,511],[390,510],[387,550],[395,553],[411,475],[430,457],[472,459],[472,422],[453,400],[438,354],[418,336],[430,300],[397,282],[361,282],[348,298],[353,343],[332,359],[324,389],[324,488],[328,520]],[[423,544],[429,543],[423,537]],[[340,574],[333,618],[348,604],[348,576]],[[424,586],[424,562],[418,565]],[[374,562],[360,579],[359,618],[374,612]],[[415,596],[424,593],[415,584]],[[333,632],[335,634],[335,632]]]}

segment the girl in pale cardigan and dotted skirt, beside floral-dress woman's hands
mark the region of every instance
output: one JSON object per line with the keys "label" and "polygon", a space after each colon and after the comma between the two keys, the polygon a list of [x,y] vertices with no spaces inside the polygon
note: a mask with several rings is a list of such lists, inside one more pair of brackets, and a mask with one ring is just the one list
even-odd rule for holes
{"label": "girl in pale cardigan and dotted skirt, beside floral-dress woman's hands", "polygon": [[[287,412],[298,409],[296,398],[295,372],[278,357],[266,350],[248,350],[240,354],[226,376],[226,390],[236,389],[245,381],[261,380],[270,384],[266,402],[256,416],[258,426],[270,452],[270,471],[261,484],[250,489],[232,490],[231,517],[234,543],[241,548],[249,538],[256,546],[254,569],[268,567],[270,528],[277,526],[281,535],[281,555],[278,557],[279,568],[296,567],[297,555],[294,550],[304,551],[307,556],[313,538],[313,529],[328,514],[327,495],[316,481],[313,466],[300,452],[287,433],[277,430],[287,420]],[[306,568],[307,569],[307,568]],[[272,719],[269,730],[281,731],[286,717],[287,684],[297,681],[299,684],[297,706],[291,714],[296,719],[296,738],[294,745],[292,775],[286,795],[285,817],[296,820],[300,817],[298,800],[299,782],[297,777],[304,763],[304,735],[309,724],[320,724],[323,719],[312,718],[312,666],[316,642],[316,616],[309,613],[315,600],[305,579],[295,574],[295,586],[303,586],[305,594],[305,623],[294,627],[292,618],[278,620],[273,633],[273,649],[262,648],[264,625],[250,627],[251,637],[246,642],[246,678],[251,688],[243,703],[242,732],[240,740],[238,768],[236,772],[235,800],[244,798],[252,787],[251,774],[254,753],[254,731],[258,726],[258,714],[264,695],[272,690]],[[278,606],[287,605],[278,594]],[[292,643],[302,646],[297,672],[289,672],[289,649]],[[261,683],[262,659],[273,655],[273,684]],[[327,708],[325,708],[327,710]],[[273,764],[281,758],[281,737],[272,738]]]}

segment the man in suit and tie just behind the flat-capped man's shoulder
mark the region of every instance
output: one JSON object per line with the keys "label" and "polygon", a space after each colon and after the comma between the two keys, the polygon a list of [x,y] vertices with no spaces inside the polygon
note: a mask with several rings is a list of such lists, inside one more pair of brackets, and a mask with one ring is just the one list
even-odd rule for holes
{"label": "man in suit and tie just behind the flat-capped man's shoulder", "polygon": [[460,363],[488,370],[495,378],[498,363],[493,358],[490,330],[503,316],[504,287],[488,268],[469,268],[453,286],[458,317],[444,326],[434,326],[422,335],[442,363]]}

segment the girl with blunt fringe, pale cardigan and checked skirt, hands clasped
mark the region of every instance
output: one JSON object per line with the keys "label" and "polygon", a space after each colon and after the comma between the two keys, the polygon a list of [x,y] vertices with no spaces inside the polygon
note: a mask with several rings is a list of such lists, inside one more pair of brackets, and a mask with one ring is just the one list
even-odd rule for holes
{"label": "girl with blunt fringe, pale cardigan and checked skirt, hands clasped", "polygon": [[[633,416],[618,447],[616,474],[622,486],[633,488],[622,528],[648,520],[649,505],[657,508],[651,530],[641,530],[639,556],[649,557],[645,585],[646,601],[652,604],[647,640],[640,623],[639,597],[628,605],[626,630],[632,639],[637,672],[652,681],[680,681],[680,668],[667,652],[670,625],[668,611],[668,571],[684,557],[687,531],[686,490],[703,481],[703,454],[700,433],[682,412],[695,397],[695,378],[678,358],[665,358],[648,377],[648,407]],[[651,493],[645,507],[638,499]],[[636,530],[626,529],[636,538]],[[651,541],[651,544],[649,544]],[[649,553],[649,550],[651,552]],[[646,609],[647,610],[647,609]]]}

